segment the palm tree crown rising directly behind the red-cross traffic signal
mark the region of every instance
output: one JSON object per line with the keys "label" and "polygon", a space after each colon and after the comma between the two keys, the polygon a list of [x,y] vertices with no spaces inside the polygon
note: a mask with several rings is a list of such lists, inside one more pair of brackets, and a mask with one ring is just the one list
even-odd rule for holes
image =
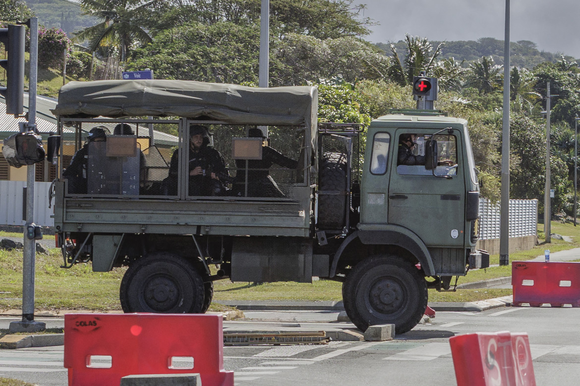
{"label": "palm tree crown rising directly behind the red-cross traffic signal", "polygon": [[413,77],[418,76],[420,71],[432,74],[437,67],[437,57],[441,54],[444,43],[440,43],[436,49],[427,38],[405,35],[406,53],[404,61],[398,56],[397,49],[391,44],[393,53],[392,64],[389,68],[389,78],[405,86],[413,82]]}

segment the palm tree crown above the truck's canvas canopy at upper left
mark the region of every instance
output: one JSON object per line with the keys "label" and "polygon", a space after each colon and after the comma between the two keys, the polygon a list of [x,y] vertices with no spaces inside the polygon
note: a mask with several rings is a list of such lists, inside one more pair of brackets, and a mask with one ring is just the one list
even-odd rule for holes
{"label": "palm tree crown above the truck's canvas canopy at upper left", "polygon": [[120,52],[121,61],[126,60],[136,43],[151,42],[151,36],[139,25],[146,12],[157,8],[163,0],[81,0],[84,14],[97,17],[102,22],[79,31],[75,40],[89,41],[89,50],[108,47],[108,52]]}

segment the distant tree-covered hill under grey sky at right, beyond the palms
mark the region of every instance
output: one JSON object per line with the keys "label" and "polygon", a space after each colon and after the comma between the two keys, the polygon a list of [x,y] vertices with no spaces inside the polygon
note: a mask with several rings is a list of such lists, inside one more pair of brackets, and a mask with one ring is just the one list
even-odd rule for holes
{"label": "distant tree-covered hill under grey sky at right, beyond the palms", "polygon": [[[433,47],[436,47],[438,41],[430,41]],[[484,56],[492,56],[495,64],[503,64],[503,41],[494,38],[480,38],[477,41],[453,41],[444,42],[442,49],[442,58],[453,57],[455,60],[465,60],[466,63],[476,61]],[[390,56],[390,43],[377,43],[380,49]],[[405,53],[405,42],[398,41],[394,43],[398,53]],[[545,61],[556,61],[562,56],[562,53],[551,53],[539,51],[536,43],[530,41],[518,41],[510,43],[510,64],[517,67],[533,68],[535,65]],[[568,57],[568,60],[573,58]],[[466,64],[467,65],[467,64]]]}

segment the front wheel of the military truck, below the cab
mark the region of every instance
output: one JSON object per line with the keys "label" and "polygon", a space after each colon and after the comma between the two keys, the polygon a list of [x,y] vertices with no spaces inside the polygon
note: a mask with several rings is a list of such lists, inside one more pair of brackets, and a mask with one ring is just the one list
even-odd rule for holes
{"label": "front wheel of the military truck, below the cab", "polygon": [[362,260],[343,283],[346,314],[363,332],[378,324],[394,324],[397,334],[408,332],[425,314],[428,296],[421,271],[393,255]]}

